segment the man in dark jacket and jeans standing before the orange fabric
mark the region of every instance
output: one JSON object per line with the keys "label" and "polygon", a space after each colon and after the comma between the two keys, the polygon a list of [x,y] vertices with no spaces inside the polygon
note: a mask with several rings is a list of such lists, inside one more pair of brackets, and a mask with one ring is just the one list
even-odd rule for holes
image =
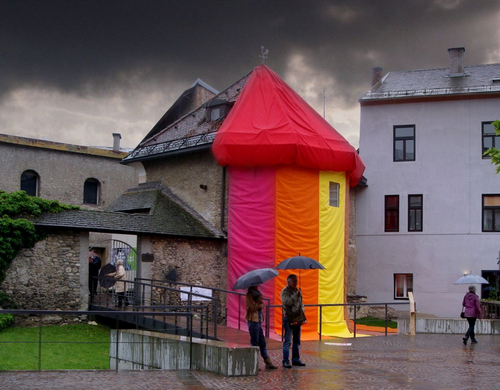
{"label": "man in dark jacket and jeans standing before the orange fabric", "polygon": [[[302,291],[297,288],[297,275],[288,275],[286,287],[281,290],[281,304],[283,305],[283,329],[285,331],[283,341],[283,368],[292,368],[292,365],[304,366],[305,363],[300,360],[300,326],[302,323],[292,324],[290,318],[298,318],[304,313],[304,304],[302,303]],[[292,364],[290,365],[290,343],[292,341]]]}

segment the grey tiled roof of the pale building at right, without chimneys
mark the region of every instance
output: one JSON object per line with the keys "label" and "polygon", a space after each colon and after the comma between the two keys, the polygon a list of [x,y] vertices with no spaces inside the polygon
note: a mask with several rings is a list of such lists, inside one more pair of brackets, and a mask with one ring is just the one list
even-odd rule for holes
{"label": "grey tiled roof of the pale building at right, without chimneys", "polygon": [[500,92],[500,83],[492,81],[500,78],[500,64],[467,66],[464,72],[459,77],[449,77],[449,68],[389,72],[359,100]]}

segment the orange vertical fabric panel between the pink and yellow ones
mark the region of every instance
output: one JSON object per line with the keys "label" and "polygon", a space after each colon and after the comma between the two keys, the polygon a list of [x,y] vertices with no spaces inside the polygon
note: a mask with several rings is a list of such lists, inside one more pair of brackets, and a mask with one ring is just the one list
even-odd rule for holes
{"label": "orange vertical fabric panel between the pink and yellow ones", "polygon": [[[319,175],[297,167],[276,169],[276,265],[296,256],[319,257]],[[289,274],[299,270],[280,270],[275,279],[275,302],[281,302],[281,289]],[[304,304],[318,303],[318,270],[300,270]],[[281,309],[275,312],[275,329],[281,333]],[[308,323],[302,326],[303,339],[318,337],[318,309],[306,307]]]}

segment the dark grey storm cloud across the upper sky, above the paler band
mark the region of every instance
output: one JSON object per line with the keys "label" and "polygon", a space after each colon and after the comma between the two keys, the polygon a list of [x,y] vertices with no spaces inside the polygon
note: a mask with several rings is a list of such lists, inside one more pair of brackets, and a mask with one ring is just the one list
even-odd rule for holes
{"label": "dark grey storm cloud across the upper sky, above the paler band", "polygon": [[[128,77],[223,89],[259,64],[282,74],[293,54],[331,74],[352,104],[370,68],[446,66],[446,48],[482,63],[498,1],[36,1],[1,3],[0,89],[80,94],[126,89]],[[496,30],[497,31],[497,30]],[[167,86],[166,86],[167,88]]]}

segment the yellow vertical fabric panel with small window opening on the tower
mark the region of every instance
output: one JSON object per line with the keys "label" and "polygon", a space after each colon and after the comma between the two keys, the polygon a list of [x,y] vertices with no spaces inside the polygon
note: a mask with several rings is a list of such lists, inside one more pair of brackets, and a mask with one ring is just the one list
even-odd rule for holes
{"label": "yellow vertical fabric panel with small window opening on the tower", "polygon": [[[339,205],[330,206],[330,182],[339,184]],[[344,303],[345,173],[319,173],[319,262],[318,303]],[[318,318],[319,322],[319,318]],[[349,337],[342,306],[323,307],[324,335]]]}

